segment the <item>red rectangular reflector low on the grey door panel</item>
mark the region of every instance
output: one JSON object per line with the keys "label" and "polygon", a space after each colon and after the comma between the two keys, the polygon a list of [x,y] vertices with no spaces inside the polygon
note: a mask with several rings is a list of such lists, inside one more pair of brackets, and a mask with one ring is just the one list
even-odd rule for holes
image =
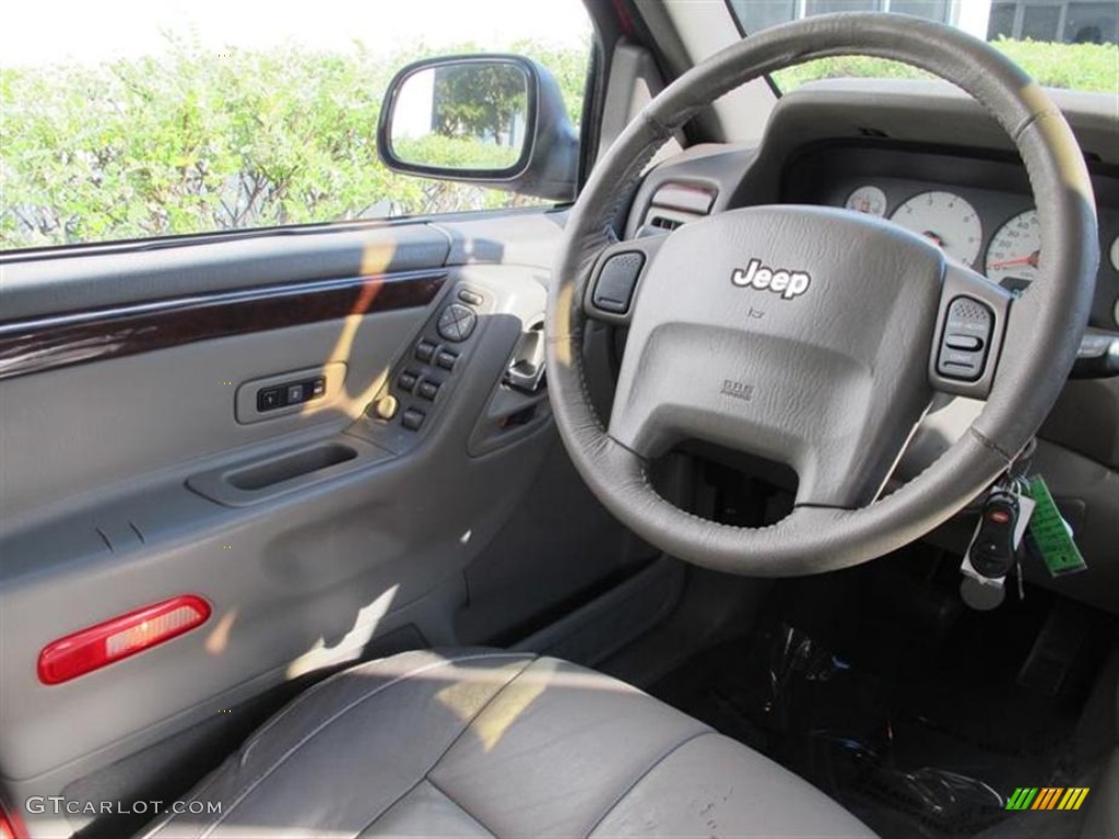
{"label": "red rectangular reflector low on the grey door panel", "polygon": [[43,649],[39,681],[58,685],[77,678],[170,641],[203,625],[209,616],[209,603],[185,594],[87,626]]}

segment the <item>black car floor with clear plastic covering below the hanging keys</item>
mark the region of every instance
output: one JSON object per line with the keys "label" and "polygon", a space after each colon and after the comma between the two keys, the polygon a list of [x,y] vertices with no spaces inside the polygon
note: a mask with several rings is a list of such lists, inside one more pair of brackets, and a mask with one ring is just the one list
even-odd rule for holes
{"label": "black car floor with clear plastic covering below the hanging keys", "polygon": [[1083,812],[1005,802],[1017,786],[1090,785],[1115,743],[1116,622],[1034,587],[970,611],[958,567],[916,547],[782,582],[749,634],[650,692],[888,839],[1074,837]]}

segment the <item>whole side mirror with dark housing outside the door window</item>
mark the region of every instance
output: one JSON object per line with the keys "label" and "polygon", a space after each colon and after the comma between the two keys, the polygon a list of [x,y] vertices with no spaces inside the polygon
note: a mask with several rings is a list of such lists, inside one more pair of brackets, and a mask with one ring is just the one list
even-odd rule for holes
{"label": "whole side mirror with dark housing outside the door window", "polygon": [[560,85],[520,56],[410,64],[385,94],[377,153],[396,172],[555,201],[575,196],[579,135]]}

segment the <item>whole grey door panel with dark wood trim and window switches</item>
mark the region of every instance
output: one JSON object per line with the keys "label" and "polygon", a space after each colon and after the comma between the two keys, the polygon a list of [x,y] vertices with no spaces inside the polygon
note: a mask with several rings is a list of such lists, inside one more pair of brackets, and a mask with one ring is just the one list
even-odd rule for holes
{"label": "whole grey door panel with dark wood trim and window switches", "polygon": [[[543,395],[500,380],[542,319],[560,230],[555,214],[514,214],[4,266],[0,774],[13,799],[58,794],[392,630],[458,642],[464,572],[556,444]],[[440,338],[464,300],[482,301],[476,328]],[[29,319],[81,327],[91,351],[44,330],[29,359],[26,322],[11,326]],[[453,369],[417,361],[421,339],[452,350]],[[399,390],[410,369],[440,370],[434,402]],[[309,373],[326,377],[321,399],[253,415],[261,388]],[[370,418],[386,394],[396,415]],[[420,431],[401,424],[408,406],[426,412]],[[574,536],[562,519],[540,525],[553,559]],[[580,586],[629,557],[620,530],[596,532],[601,556],[577,543]],[[532,602],[571,595],[556,590]],[[211,604],[199,630],[60,685],[36,678],[47,643],[178,594]]]}

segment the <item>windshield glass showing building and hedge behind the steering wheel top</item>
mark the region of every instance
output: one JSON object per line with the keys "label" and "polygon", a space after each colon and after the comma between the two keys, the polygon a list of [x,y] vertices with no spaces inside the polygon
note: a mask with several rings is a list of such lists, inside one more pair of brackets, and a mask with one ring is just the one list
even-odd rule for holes
{"label": "windshield glass showing building and hedge behind the steering wheel top", "polygon": [[[891,11],[935,20],[990,41],[1045,87],[1119,93],[1116,0],[728,0],[744,34],[814,15]],[[896,62],[822,58],[773,75],[781,92],[820,78],[928,78]]]}

